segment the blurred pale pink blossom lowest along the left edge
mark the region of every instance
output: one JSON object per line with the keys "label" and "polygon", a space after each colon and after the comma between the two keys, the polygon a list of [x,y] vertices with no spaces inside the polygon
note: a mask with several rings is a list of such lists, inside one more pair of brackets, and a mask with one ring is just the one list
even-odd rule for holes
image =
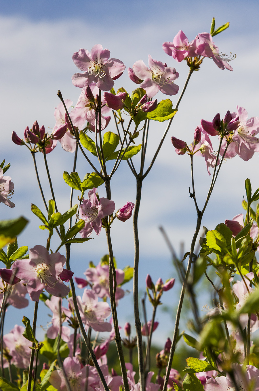
{"label": "blurred pale pink blossom lowest along the left edge", "polygon": [[[23,337],[25,328],[23,326],[15,325],[10,333],[3,337],[4,347],[9,350],[12,356],[11,364],[18,368],[26,369],[30,363],[31,342]],[[7,365],[6,365],[7,366]]]}

